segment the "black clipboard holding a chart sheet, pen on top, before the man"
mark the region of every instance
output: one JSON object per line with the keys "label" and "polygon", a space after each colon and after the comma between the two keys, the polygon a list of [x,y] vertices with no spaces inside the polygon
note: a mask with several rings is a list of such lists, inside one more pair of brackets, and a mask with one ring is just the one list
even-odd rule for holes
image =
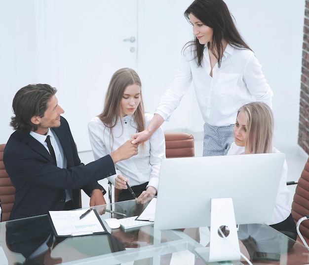
{"label": "black clipboard holding a chart sheet, pen on top, before the man", "polygon": [[48,219],[55,236],[70,237],[109,233],[95,209],[79,219],[85,211],[85,209],[48,211]]}

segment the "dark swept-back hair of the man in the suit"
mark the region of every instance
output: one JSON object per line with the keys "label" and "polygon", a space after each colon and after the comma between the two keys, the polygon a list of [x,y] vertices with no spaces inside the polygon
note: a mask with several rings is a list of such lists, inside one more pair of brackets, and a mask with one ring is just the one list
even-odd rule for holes
{"label": "dark swept-back hair of the man in the suit", "polygon": [[38,126],[31,118],[44,116],[48,102],[56,92],[56,88],[46,84],[32,84],[18,90],[12,103],[15,117],[11,117],[10,125],[13,129],[22,133],[37,131]]}

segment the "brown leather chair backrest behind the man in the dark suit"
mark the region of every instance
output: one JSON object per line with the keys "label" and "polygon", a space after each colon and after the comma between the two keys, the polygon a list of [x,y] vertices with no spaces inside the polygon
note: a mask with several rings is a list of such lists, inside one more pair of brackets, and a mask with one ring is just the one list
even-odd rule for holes
{"label": "brown leather chair backrest behind the man in the dark suit", "polygon": [[15,201],[15,188],[13,187],[3,164],[4,147],[5,144],[0,144],[0,199],[2,207],[2,222],[9,219]]}

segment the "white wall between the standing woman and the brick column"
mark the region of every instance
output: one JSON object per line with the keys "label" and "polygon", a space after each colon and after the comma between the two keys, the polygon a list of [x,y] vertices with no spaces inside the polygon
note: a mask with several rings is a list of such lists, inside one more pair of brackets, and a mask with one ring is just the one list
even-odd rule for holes
{"label": "white wall between the standing woman and the brick column", "polygon": [[273,91],[275,139],[296,145],[305,0],[226,2]]}

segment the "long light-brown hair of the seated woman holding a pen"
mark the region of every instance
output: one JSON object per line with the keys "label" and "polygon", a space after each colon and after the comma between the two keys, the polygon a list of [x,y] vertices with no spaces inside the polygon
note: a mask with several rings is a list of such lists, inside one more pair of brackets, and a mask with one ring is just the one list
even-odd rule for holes
{"label": "long light-brown hair of the seated woman holding a pen", "polygon": [[[117,70],[110,81],[108,90],[106,92],[104,108],[98,117],[104,125],[110,129],[113,135],[113,128],[121,118],[121,99],[125,89],[130,85],[139,85],[142,87],[140,77],[131,68],[121,68]],[[134,122],[137,126],[136,132],[145,130],[145,117],[144,117],[144,103],[141,90],[141,102],[139,103],[136,111],[132,115]],[[120,119],[121,121],[121,119]],[[121,121],[122,122],[122,121]]]}

